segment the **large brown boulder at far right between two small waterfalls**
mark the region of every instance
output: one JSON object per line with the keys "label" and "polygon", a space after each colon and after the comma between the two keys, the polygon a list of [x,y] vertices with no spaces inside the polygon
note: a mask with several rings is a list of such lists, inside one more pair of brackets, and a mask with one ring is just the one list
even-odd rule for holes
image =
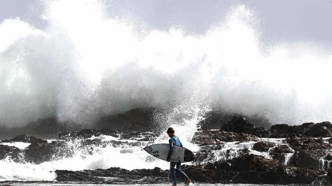
{"label": "large brown boulder at far right between two small waterfalls", "polygon": [[298,167],[320,169],[320,160],[326,156],[326,150],[302,150],[294,153],[293,158]]}

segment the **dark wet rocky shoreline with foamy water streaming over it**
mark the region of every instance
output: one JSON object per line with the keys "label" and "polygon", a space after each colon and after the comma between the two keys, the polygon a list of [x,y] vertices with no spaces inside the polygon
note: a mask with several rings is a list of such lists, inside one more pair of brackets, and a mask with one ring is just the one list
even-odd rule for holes
{"label": "dark wet rocky shoreline with foamy water streaming over it", "polygon": [[[10,157],[18,163],[40,164],[71,157],[75,149],[68,146],[67,142],[73,139],[84,139],[75,148],[83,148],[86,153],[90,152],[92,145],[120,146],[127,143],[91,138],[100,135],[136,140],[137,144],[132,145],[141,145],[139,142],[152,143],[158,133],[84,129],[60,132],[58,140],[54,141],[20,135],[1,143],[24,142],[30,145],[24,149],[0,145],[0,160]],[[273,125],[266,129],[256,128],[243,117],[233,117],[220,130],[195,133],[192,142],[198,144],[200,150],[196,152],[195,165],[185,172],[194,181],[205,183],[332,185],[331,137],[332,124],[328,121],[296,126]],[[226,145],[232,146],[225,150]],[[264,156],[257,154],[258,152]],[[188,165],[182,166],[185,167]],[[155,183],[167,182],[169,171],[158,167],[130,171],[110,167],[81,171],[56,170],[55,173],[57,181]],[[181,181],[181,176],[177,177]]]}

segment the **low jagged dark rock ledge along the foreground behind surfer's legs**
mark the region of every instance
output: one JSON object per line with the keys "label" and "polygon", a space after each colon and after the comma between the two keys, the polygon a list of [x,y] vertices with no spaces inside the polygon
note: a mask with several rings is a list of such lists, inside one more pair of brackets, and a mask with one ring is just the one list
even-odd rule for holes
{"label": "low jagged dark rock ledge along the foreground behind surfer's legs", "polygon": [[[188,166],[183,165],[182,168]],[[195,182],[204,183],[247,183],[247,184],[311,184],[327,172],[284,165],[278,160],[245,154],[229,163],[215,162],[205,166],[192,166],[185,170]],[[119,167],[83,171],[55,171],[58,181],[100,181],[126,183],[167,182],[169,170],[134,169]],[[330,174],[330,172],[329,172]],[[328,175],[329,175],[328,174]],[[330,177],[326,176],[326,179]],[[178,180],[185,181],[180,175]]]}

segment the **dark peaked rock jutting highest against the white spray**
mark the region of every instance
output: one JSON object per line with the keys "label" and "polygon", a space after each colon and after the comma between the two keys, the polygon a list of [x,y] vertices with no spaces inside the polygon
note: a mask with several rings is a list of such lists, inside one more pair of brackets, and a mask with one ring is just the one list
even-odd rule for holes
{"label": "dark peaked rock jutting highest against the white spray", "polygon": [[244,117],[234,116],[231,121],[223,124],[220,130],[226,132],[253,134],[255,125],[251,124]]}

